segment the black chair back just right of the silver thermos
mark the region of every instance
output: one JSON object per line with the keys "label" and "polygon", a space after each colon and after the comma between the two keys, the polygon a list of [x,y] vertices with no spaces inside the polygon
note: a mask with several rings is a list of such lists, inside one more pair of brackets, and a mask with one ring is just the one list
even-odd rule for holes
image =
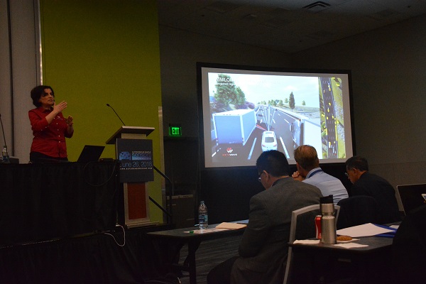
{"label": "black chair back just right of the silver thermos", "polygon": [[377,202],[371,196],[357,195],[337,202],[340,206],[337,229],[366,223],[378,223]]}

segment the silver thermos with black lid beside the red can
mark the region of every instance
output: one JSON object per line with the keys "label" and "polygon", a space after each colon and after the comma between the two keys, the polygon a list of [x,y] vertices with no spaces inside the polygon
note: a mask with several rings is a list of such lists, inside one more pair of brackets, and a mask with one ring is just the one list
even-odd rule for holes
{"label": "silver thermos with black lid beside the red can", "polygon": [[320,198],[321,242],[336,244],[336,218],[334,217],[333,195]]}

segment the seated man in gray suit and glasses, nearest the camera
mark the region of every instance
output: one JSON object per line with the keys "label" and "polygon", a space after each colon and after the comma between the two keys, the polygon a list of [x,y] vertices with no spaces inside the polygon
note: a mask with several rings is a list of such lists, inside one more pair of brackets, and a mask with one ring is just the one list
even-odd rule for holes
{"label": "seated man in gray suit and glasses, nearest the camera", "polygon": [[320,204],[322,194],[317,187],[290,178],[283,153],[263,152],[256,168],[266,190],[251,197],[249,224],[239,245],[239,256],[213,268],[207,275],[209,284],[283,283],[291,213]]}

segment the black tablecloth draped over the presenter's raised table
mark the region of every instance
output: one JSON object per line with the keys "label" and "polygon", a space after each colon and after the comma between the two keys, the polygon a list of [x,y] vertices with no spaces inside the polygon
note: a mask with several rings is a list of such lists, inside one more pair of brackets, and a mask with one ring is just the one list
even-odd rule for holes
{"label": "black tablecloth draped over the presenter's raised table", "polygon": [[0,164],[0,246],[113,229],[114,162]]}

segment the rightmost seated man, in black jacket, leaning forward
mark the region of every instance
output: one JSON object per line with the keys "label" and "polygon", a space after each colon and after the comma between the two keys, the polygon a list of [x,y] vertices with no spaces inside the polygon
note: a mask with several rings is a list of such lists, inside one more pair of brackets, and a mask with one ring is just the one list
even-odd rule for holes
{"label": "rightmost seated man, in black jacket, leaning forward", "polygon": [[346,160],[346,175],[353,183],[352,196],[368,195],[376,200],[379,224],[401,220],[395,189],[384,178],[368,172],[366,158],[354,156]]}

